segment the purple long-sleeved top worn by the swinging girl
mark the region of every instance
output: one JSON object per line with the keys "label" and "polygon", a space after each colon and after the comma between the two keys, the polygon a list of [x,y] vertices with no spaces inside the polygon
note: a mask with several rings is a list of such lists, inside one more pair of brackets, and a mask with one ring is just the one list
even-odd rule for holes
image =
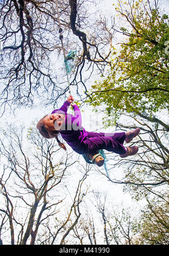
{"label": "purple long-sleeved top worn by the swinging girl", "polygon": [[65,114],[65,122],[61,127],[60,135],[65,140],[74,151],[81,153],[83,147],[83,140],[87,137],[87,131],[82,127],[82,116],[81,111],[77,105],[73,105],[74,116],[68,114],[68,108],[70,106],[69,101],[65,101],[60,109],[55,109],[53,113],[63,113]]}

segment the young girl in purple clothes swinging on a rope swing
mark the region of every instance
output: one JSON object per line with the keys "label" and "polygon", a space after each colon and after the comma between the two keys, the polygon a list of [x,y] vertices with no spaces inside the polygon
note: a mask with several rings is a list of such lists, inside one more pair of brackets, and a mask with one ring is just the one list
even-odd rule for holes
{"label": "young girl in purple clothes swinging on a rope swing", "polygon": [[[47,138],[56,138],[60,147],[65,145],[60,142],[57,136],[60,134],[68,145],[77,153],[84,155],[93,162],[101,166],[104,164],[104,158],[98,154],[99,149],[114,152],[120,157],[135,155],[138,147],[124,147],[126,143],[131,142],[140,132],[140,128],[127,133],[93,133],[86,131],[82,127],[81,111],[76,104],[73,103],[73,96],[70,95],[60,109],[55,109],[51,114],[47,114],[37,123],[39,133]],[[74,116],[68,114],[69,105],[72,105]]]}

